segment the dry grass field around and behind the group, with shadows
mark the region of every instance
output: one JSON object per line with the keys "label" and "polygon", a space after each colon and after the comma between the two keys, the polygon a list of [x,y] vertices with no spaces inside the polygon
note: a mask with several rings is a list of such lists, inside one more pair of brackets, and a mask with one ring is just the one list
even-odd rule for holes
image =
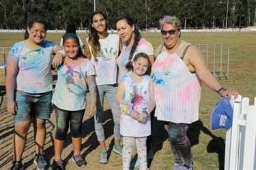
{"label": "dry grass field around and behind the group, with shadows", "polygon": [[[62,33],[48,33],[46,39],[59,44]],[[78,34],[83,41],[87,37],[87,33]],[[142,33],[152,43],[153,47],[157,47],[162,43],[160,33]],[[192,44],[229,44],[229,76],[221,78],[219,82],[229,90],[238,90],[242,97],[251,99],[250,104],[254,102],[256,97],[256,32],[224,32],[224,33],[182,33],[182,39]],[[0,47],[12,47],[17,41],[23,40],[23,33],[0,33]],[[1,54],[1,52],[0,52]],[[0,63],[3,61],[0,55]],[[0,84],[5,83],[4,71],[0,70]],[[0,169],[8,169],[10,160],[12,160],[12,134],[13,122],[10,114],[6,109],[5,92],[3,95],[3,104],[0,111]],[[208,89],[204,84],[202,88],[199,121],[194,122],[188,136],[192,144],[192,152],[194,159],[194,169],[224,169],[225,158],[225,129],[211,130],[210,114],[221,97]],[[106,107],[106,144],[109,147],[109,163],[100,165],[98,158],[100,148],[94,133],[93,120],[87,116],[83,122],[83,150],[86,156],[87,169],[122,169],[122,158],[111,153],[113,147],[113,120],[111,120],[111,111],[109,105]],[[53,163],[53,137],[55,134],[55,115],[52,114],[47,124],[46,139],[46,160]],[[23,154],[23,163],[27,169],[35,169],[33,164],[33,135],[32,128],[28,135],[27,148]],[[70,135],[68,136],[70,137]],[[173,165],[173,156],[167,139],[167,133],[162,127],[162,122],[153,120],[153,150],[155,156],[150,160],[150,169],[162,170],[171,169]],[[74,169],[72,157],[72,144],[70,139],[66,141],[66,148],[63,150],[64,164],[67,169]]]}

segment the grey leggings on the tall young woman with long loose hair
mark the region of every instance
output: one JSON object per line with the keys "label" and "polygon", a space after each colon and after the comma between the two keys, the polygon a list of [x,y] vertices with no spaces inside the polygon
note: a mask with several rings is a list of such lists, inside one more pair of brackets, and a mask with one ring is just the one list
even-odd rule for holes
{"label": "grey leggings on the tall young woman with long loose hair", "polygon": [[117,84],[106,84],[106,85],[99,85],[97,86],[97,113],[94,116],[94,126],[95,131],[97,135],[98,141],[104,141],[104,128],[103,128],[103,122],[104,122],[104,96],[106,96],[107,101],[109,102],[109,105],[111,107],[111,112],[113,115],[114,120],[114,137],[115,140],[121,139],[120,134],[120,116],[121,116],[121,109],[116,101],[116,95],[117,95]]}

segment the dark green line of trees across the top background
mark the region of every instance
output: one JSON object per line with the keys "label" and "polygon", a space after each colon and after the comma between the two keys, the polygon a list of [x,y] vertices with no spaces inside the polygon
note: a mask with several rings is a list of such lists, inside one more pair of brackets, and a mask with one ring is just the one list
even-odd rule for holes
{"label": "dark green line of trees across the top background", "polygon": [[29,16],[40,15],[48,29],[65,29],[74,24],[85,29],[91,12],[106,14],[109,29],[115,20],[130,14],[139,29],[158,28],[164,16],[180,18],[185,29],[216,29],[255,25],[255,0],[1,0],[0,29],[25,29]]}

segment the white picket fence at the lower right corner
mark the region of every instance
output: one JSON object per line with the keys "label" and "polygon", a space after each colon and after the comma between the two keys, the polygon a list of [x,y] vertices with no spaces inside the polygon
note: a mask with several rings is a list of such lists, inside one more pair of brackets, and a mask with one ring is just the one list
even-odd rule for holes
{"label": "white picket fence at the lower right corner", "polygon": [[256,169],[256,97],[231,99],[233,124],[226,133],[225,169]]}

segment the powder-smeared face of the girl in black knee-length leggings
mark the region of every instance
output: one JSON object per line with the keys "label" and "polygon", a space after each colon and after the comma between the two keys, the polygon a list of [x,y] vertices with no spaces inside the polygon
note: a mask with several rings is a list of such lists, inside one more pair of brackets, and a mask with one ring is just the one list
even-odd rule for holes
{"label": "powder-smeared face of the girl in black knee-length leggings", "polygon": [[77,54],[79,54],[80,46],[75,39],[66,39],[63,48],[68,57],[76,58]]}

